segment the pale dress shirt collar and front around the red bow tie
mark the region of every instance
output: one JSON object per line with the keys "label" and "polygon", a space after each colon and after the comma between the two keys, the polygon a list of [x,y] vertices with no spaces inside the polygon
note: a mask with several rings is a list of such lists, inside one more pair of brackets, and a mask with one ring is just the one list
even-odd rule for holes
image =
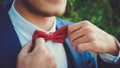
{"label": "pale dress shirt collar and front around the red bow tie", "polygon": [[[8,14],[22,46],[32,40],[32,35],[36,29],[44,31],[43,29],[31,24],[29,21],[24,19],[14,8],[14,2]],[[50,33],[54,31],[56,31],[56,19],[54,21],[53,27],[48,32],[44,32]],[[50,48],[52,54],[55,57],[57,68],[67,68],[67,57],[63,44],[49,40],[46,42],[46,45]]]}

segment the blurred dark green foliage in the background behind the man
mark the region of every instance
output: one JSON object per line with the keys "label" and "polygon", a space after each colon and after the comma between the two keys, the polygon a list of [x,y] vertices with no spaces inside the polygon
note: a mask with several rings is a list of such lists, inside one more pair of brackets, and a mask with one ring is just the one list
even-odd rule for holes
{"label": "blurred dark green foliage in the background behind the man", "polygon": [[60,17],[73,22],[89,20],[120,40],[120,0],[68,0],[66,13]]}

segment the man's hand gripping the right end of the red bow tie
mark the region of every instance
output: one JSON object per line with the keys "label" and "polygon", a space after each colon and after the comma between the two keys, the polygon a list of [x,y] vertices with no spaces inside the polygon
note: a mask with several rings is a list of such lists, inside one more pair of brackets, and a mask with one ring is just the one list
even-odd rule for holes
{"label": "man's hand gripping the right end of the red bow tie", "polygon": [[112,55],[118,53],[114,38],[89,21],[82,21],[69,26],[68,37],[73,47],[79,52],[91,50]]}

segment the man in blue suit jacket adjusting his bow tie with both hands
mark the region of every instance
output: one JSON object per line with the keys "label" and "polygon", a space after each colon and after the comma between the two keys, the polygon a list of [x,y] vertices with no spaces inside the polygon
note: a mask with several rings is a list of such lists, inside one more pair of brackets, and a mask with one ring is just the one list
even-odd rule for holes
{"label": "man in blue suit jacket adjusting his bow tie with both hands", "polygon": [[1,7],[0,68],[97,68],[87,50],[118,54],[114,38],[88,21],[68,26],[64,43],[43,38],[33,43],[35,30],[49,34],[70,24],[54,17],[63,14],[65,6],[66,0],[15,0]]}

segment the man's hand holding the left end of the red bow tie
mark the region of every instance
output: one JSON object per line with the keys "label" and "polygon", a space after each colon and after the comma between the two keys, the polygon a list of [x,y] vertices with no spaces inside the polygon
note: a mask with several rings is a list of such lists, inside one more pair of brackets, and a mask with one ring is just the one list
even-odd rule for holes
{"label": "man's hand holding the left end of the red bow tie", "polygon": [[56,61],[43,38],[38,38],[32,48],[32,42],[26,44],[17,57],[17,68],[56,68]]}

